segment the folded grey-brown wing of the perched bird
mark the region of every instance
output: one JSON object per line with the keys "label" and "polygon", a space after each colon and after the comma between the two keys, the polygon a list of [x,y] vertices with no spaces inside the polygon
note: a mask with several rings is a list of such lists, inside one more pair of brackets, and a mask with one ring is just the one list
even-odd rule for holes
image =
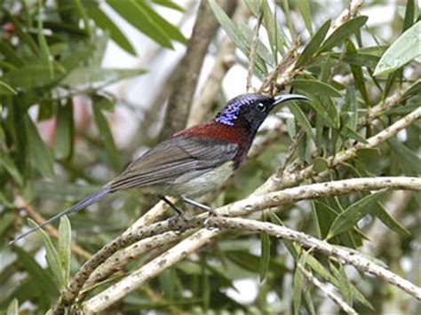
{"label": "folded grey-brown wing of the perched bird", "polygon": [[213,138],[169,138],[140,156],[109,183],[117,190],[173,182],[186,174],[203,174],[234,158],[239,146]]}

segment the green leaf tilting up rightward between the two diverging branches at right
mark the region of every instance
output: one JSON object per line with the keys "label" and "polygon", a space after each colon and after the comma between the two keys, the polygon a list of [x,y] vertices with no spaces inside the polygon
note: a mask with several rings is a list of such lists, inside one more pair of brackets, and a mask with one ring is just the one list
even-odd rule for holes
{"label": "green leaf tilting up rightward between the two diverging branches at right", "polygon": [[341,232],[350,230],[353,225],[355,225],[361,219],[361,217],[364,217],[366,214],[373,210],[373,205],[379,201],[385,195],[385,193],[385,190],[379,191],[377,193],[371,193],[349,206],[345,212],[341,213],[330,226],[328,239],[338,235]]}

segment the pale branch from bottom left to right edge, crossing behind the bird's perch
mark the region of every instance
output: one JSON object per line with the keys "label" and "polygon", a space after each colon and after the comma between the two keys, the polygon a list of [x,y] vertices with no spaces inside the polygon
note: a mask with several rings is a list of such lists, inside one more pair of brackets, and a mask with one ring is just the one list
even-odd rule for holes
{"label": "pale branch from bottom left to right edge, crossing behind the bird's perch", "polygon": [[[371,191],[383,188],[421,190],[421,178],[417,177],[369,177],[353,178],[339,180],[336,182],[303,185],[286,189],[282,192],[268,193],[266,195],[253,195],[249,198],[236,201],[216,209],[218,215],[230,217],[245,216],[252,212],[267,209],[293,201],[301,201],[310,198],[330,197],[333,195],[353,193],[361,191]],[[199,216],[201,217],[201,216]],[[218,216],[218,219],[222,217]],[[145,264],[136,272],[108,287],[103,292],[92,297],[89,301],[83,303],[83,311],[88,313],[105,310],[108,306],[115,303],[123,296],[141,286],[145,281],[155,277],[163,270],[178,263],[184,257],[202,247],[212,238],[220,233],[219,230],[202,229],[195,232],[192,236],[182,240],[169,249],[166,253],[156,257],[153,261]]]}

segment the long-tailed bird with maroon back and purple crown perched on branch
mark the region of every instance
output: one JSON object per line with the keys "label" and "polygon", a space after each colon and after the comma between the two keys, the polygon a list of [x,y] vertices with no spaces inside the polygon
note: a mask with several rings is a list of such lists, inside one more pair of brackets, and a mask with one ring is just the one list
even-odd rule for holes
{"label": "long-tailed bird with maroon back and purple crown perched on branch", "polygon": [[176,132],[131,161],[126,169],[99,191],[43,224],[21,233],[11,243],[60,217],[87,208],[108,194],[130,188],[155,193],[179,215],[183,214],[182,210],[165,196],[177,197],[187,204],[212,212],[211,207],[192,198],[223,184],[245,160],[258,128],[274,106],[294,99],[309,100],[306,96],[292,93],[274,97],[245,93],[230,99],[213,120]]}

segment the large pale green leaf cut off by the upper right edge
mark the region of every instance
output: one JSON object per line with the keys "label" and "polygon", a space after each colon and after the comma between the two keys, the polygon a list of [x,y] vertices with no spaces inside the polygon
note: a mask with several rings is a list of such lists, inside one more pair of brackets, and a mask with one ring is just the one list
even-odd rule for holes
{"label": "large pale green leaf cut off by the upper right edge", "polygon": [[407,29],[392,45],[385,51],[374,75],[388,75],[407,64],[410,60],[421,56],[421,21],[418,21],[411,28]]}

